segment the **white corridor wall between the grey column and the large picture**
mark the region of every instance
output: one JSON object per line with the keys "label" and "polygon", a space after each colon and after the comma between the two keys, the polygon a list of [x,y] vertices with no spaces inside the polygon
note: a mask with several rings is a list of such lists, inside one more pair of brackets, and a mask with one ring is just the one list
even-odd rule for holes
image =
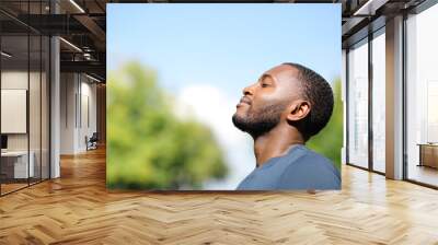
{"label": "white corridor wall between the grey column and the large picture", "polygon": [[61,73],[60,93],[60,153],[84,152],[85,136],[96,131],[96,85],[83,74]]}

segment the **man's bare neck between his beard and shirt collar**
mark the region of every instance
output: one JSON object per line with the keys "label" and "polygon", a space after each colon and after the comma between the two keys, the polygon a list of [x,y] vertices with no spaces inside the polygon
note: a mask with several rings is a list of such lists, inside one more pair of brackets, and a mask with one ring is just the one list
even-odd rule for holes
{"label": "man's bare neck between his beard and shirt collar", "polygon": [[277,126],[254,138],[256,166],[262,166],[272,158],[285,155],[295,144],[304,144],[304,139],[297,129],[290,128],[290,126]]}

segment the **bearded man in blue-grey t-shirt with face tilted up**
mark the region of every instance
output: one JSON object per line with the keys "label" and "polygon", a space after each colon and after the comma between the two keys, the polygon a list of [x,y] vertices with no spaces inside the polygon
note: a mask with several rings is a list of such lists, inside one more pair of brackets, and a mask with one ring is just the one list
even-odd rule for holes
{"label": "bearded man in blue-grey t-shirt with face tilted up", "polygon": [[274,67],[245,88],[232,121],[254,139],[256,167],[238,190],[341,189],[338,170],[304,145],[332,110],[330,84],[299,63]]}

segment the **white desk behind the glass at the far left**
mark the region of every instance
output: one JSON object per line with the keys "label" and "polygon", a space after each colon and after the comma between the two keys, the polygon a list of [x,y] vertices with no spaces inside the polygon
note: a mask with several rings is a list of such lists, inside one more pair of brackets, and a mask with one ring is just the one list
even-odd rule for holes
{"label": "white desk behind the glass at the far left", "polygon": [[[35,153],[30,151],[28,155],[31,156],[31,161],[28,161],[28,168],[27,168],[27,151],[7,151],[1,152],[1,164],[2,164],[2,172],[3,168],[5,171],[3,173],[7,174],[10,178],[27,178],[34,176],[34,159]],[[11,162],[11,160],[14,160]],[[13,168],[13,172],[12,170]],[[11,171],[8,171],[11,170]],[[10,173],[7,173],[10,172]],[[12,175],[13,173],[13,175]],[[27,176],[27,173],[30,174]]]}

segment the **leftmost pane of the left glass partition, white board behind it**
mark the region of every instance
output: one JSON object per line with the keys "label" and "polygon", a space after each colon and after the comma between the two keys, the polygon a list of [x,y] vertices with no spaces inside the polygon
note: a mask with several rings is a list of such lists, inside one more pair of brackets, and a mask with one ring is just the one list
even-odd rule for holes
{"label": "leftmost pane of the left glass partition, white board behind it", "polygon": [[26,187],[34,173],[28,154],[28,36],[3,35],[1,51],[1,191],[8,194]]}

